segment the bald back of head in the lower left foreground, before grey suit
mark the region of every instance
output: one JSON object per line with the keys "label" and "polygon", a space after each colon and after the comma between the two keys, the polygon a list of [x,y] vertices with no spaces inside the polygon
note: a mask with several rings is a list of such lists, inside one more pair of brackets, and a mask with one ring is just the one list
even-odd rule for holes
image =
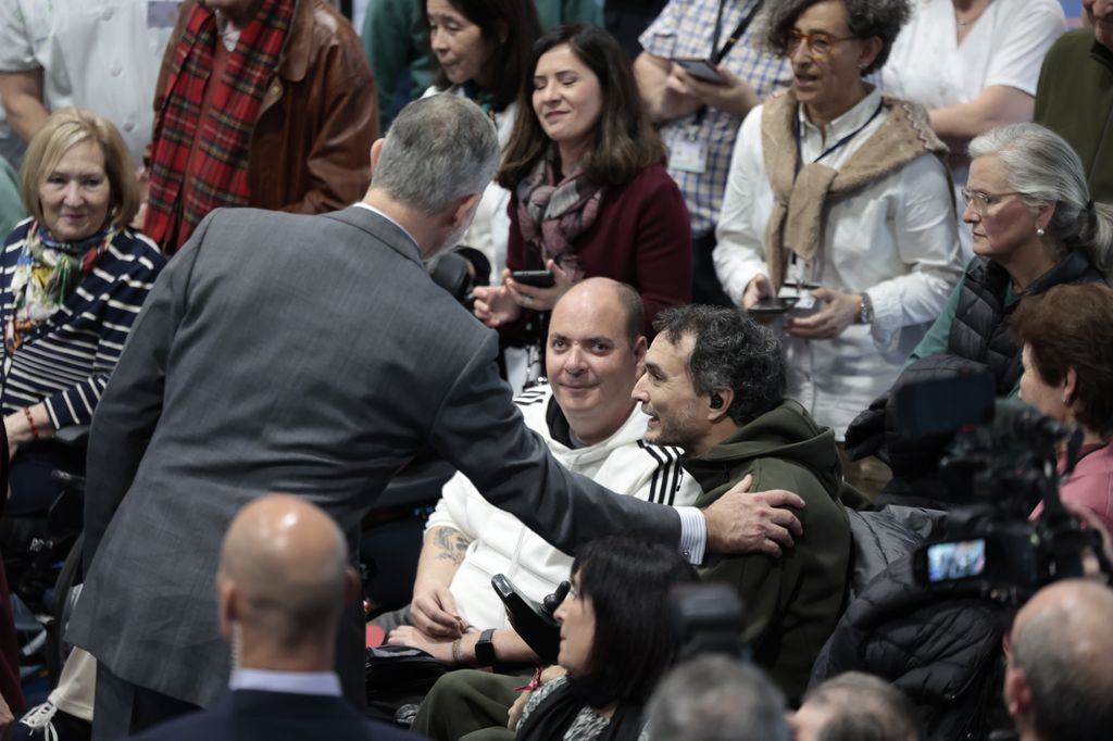
{"label": "bald back of head in the lower left foreground, before grey suit", "polygon": [[331,642],[354,577],[336,523],[309,502],[270,494],[240,510],[224,539],[221,631],[238,622],[289,649]]}

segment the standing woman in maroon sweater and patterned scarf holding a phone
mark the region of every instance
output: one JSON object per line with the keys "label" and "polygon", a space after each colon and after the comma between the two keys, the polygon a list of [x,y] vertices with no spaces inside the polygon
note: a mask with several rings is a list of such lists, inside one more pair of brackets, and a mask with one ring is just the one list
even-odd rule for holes
{"label": "standing woman in maroon sweater and patterned scarf holding a phone", "polygon": [[[633,286],[647,324],[691,300],[691,228],[630,61],[594,26],[562,26],[533,46],[532,75],[498,181],[513,198],[502,285],[476,289],[475,315],[504,337],[539,343],[544,318],[575,281]],[[550,288],[514,280],[549,270]]]}

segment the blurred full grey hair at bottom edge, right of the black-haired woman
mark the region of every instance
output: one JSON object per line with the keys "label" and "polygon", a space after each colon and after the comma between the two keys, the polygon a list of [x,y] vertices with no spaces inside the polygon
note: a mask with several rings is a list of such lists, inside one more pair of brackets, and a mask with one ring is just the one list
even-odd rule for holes
{"label": "blurred full grey hair at bottom edge, right of the black-haired woman", "polygon": [[673,669],[649,701],[653,741],[789,741],[785,696],[765,672],[726,655]]}

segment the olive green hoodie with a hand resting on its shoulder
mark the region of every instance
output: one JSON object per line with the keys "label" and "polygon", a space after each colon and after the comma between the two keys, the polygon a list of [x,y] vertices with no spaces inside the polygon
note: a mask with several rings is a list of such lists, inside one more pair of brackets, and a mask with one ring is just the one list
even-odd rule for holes
{"label": "olive green hoodie with a hand resting on its shoulder", "polygon": [[807,689],[816,654],[835,629],[846,591],[850,526],[838,502],[843,470],[835,434],[786,399],[703,455],[686,456],[682,464],[703,490],[699,507],[746,474],[754,474],[751,492],[785,488],[807,502],[805,510],[794,510],[804,535],[781,556],[709,555],[700,570],[705,581],[738,591],[746,605],[742,638],[754,660],[795,704]]}

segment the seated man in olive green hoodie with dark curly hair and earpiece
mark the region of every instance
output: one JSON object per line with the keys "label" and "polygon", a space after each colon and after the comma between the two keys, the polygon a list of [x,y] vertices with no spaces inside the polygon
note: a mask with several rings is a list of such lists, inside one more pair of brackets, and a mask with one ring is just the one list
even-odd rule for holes
{"label": "seated man in olive green hoodie with dark curly hair and earpiece", "polygon": [[746,604],[743,640],[794,704],[827,641],[846,591],[850,527],[839,503],[835,434],[785,398],[780,343],[738,309],[682,306],[658,315],[658,335],[633,397],[649,415],[646,441],[684,451],[707,506],[747,475],[750,491],[804,497],[804,534],[779,555],[711,555],[705,581],[726,582]]}

